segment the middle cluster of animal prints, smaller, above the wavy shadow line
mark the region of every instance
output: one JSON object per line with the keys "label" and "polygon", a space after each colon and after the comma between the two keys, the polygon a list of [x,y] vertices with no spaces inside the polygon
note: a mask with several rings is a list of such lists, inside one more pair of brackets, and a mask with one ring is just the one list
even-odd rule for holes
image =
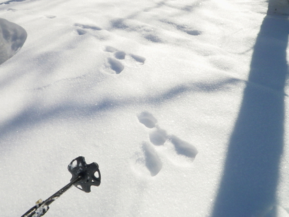
{"label": "middle cluster of animal prints, smaller, above the wavy shadow line", "polygon": [[142,56],[138,56],[136,54],[127,54],[121,50],[117,50],[111,46],[107,46],[105,48],[105,52],[111,52],[113,57],[107,58],[107,63],[109,68],[113,70],[116,74],[120,74],[125,69],[125,66],[122,64],[121,61],[124,61],[127,56],[138,63],[144,64],[145,58]]}

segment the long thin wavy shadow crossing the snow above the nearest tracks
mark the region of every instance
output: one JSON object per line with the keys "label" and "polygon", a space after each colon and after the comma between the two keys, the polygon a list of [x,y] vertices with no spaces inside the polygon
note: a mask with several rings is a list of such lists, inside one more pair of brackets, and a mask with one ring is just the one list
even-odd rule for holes
{"label": "long thin wavy shadow crossing the snow above the nearest tracks", "polygon": [[[77,78],[76,78],[77,79]],[[11,79],[12,80],[12,79]],[[59,81],[61,82],[61,81]],[[71,82],[71,83],[69,83]],[[6,121],[0,122],[0,141],[5,140],[5,137],[19,132],[25,129],[31,129],[32,127],[39,125],[41,123],[50,122],[52,123],[55,119],[65,119],[72,118],[92,118],[96,116],[103,116],[103,114],[108,114],[109,112],[115,112],[116,110],[122,110],[125,107],[135,106],[135,105],[162,105],[169,101],[174,101],[179,99],[180,96],[195,93],[195,92],[224,92],[234,87],[237,79],[221,79],[220,81],[214,81],[213,83],[206,82],[191,82],[175,85],[168,90],[160,91],[154,94],[147,94],[147,96],[124,96],[124,97],[114,97],[107,96],[103,99],[96,99],[92,103],[83,103],[73,100],[73,97],[69,101],[64,101],[61,103],[56,103],[50,106],[41,105],[41,101],[34,100],[31,105],[23,106],[22,109],[14,114],[14,116],[8,118]],[[57,83],[57,82],[56,82]],[[75,85],[74,79],[67,80],[66,83],[71,90],[67,89],[65,95],[70,96],[75,94],[78,90],[78,85]],[[8,84],[7,84],[8,85]],[[81,84],[82,85],[82,84]],[[53,85],[51,85],[53,86]],[[50,85],[45,87],[39,87],[34,90],[29,90],[31,93],[37,94],[37,91],[45,90],[50,88]],[[1,89],[1,83],[0,83]],[[41,96],[43,96],[41,94]],[[61,96],[59,96],[61,97]],[[13,108],[12,108],[13,109]],[[4,153],[8,147],[7,143],[0,142],[0,155]]]}

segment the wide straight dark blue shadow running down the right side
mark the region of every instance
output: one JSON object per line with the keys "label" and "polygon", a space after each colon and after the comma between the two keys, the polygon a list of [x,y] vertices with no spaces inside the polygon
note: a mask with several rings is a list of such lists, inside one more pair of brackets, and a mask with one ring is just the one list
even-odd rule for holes
{"label": "wide straight dark blue shadow running down the right side", "polygon": [[263,216],[275,204],[283,151],[288,33],[288,17],[267,16],[261,25],[213,217]]}

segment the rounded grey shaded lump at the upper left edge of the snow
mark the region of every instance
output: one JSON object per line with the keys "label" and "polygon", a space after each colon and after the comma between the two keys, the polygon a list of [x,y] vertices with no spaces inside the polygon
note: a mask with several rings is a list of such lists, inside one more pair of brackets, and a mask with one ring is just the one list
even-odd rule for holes
{"label": "rounded grey shaded lump at the upper left edge of the snow", "polygon": [[15,23],[0,18],[0,64],[20,50],[27,38],[27,32]]}

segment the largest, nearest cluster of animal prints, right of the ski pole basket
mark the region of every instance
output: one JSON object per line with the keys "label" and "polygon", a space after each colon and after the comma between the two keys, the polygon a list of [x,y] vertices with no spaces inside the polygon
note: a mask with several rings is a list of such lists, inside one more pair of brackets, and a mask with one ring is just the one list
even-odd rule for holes
{"label": "largest, nearest cluster of animal prints, right of the ski pole basket", "polygon": [[144,126],[152,129],[149,133],[149,141],[143,142],[142,151],[144,153],[144,164],[149,169],[151,176],[156,176],[162,169],[162,161],[154,147],[164,145],[167,141],[171,142],[175,147],[175,152],[182,156],[194,159],[197,155],[197,149],[190,143],[183,141],[175,135],[169,135],[165,130],[158,126],[158,120],[149,112],[141,112],[138,114],[138,121]]}

